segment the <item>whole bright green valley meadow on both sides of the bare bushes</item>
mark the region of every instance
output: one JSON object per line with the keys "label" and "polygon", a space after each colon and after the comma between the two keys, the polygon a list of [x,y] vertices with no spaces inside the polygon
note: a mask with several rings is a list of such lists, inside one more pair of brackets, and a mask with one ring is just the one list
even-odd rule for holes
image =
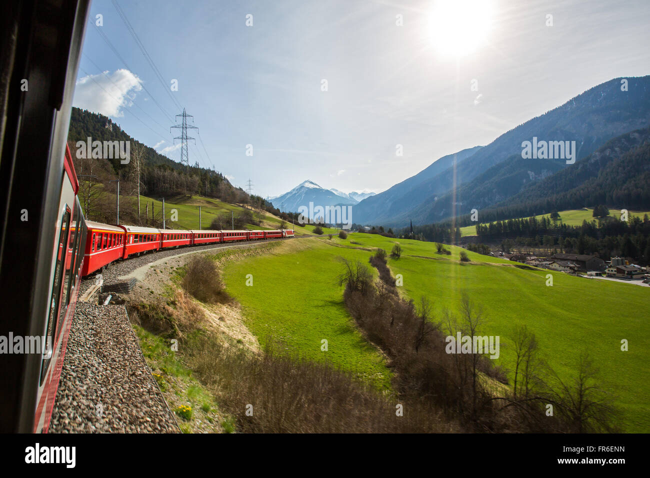
{"label": "whole bright green valley meadow on both sides of the bare bushes", "polygon": [[[387,383],[387,369],[354,330],[334,281],[341,272],[338,256],[367,262],[371,252],[363,249],[390,251],[395,241],[362,233],[346,240],[310,240],[296,252],[229,263],[224,278],[242,304],[247,325],[262,340],[281,339],[287,349],[327,357]],[[573,375],[580,352],[590,352],[601,369],[601,382],[623,412],[623,430],[650,430],[647,289],[561,272],[552,272],[553,285],[547,287],[549,271],[521,269],[506,259],[469,251],[472,262],[461,265],[460,248],[447,246],[452,254],[446,256],[435,252],[434,243],[398,241],[402,258],[389,259],[389,267],[402,274],[404,294],[416,302],[428,297],[439,317],[445,308],[458,312],[459,299],[467,293],[486,310],[489,321],[480,332],[500,336],[497,363],[505,367],[513,363],[518,324],[536,334],[543,358],[563,379]],[[253,287],[246,287],[246,274],[253,274]],[[320,352],[322,338],[328,339],[329,352]],[[629,341],[629,351],[620,350],[621,339]]]}

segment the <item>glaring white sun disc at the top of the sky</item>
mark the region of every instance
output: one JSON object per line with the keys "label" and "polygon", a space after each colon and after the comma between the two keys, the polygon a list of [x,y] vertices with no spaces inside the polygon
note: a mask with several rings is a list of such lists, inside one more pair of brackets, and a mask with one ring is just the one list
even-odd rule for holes
{"label": "glaring white sun disc at the top of the sky", "polygon": [[439,0],[429,21],[432,45],[448,57],[463,57],[484,46],[493,22],[489,0]]}

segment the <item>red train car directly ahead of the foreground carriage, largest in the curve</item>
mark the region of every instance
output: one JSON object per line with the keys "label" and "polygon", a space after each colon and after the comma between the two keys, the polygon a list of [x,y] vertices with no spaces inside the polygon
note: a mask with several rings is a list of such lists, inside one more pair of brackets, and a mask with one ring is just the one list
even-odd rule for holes
{"label": "red train car directly ahead of the foreground carriage, largest in the curve", "polygon": [[81,275],[87,276],[124,256],[125,232],[119,226],[86,221],[86,249]]}

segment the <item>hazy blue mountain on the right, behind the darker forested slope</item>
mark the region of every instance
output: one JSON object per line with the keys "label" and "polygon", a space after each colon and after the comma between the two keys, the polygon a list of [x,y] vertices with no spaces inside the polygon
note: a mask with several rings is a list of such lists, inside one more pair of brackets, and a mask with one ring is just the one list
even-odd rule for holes
{"label": "hazy blue mountain on the right, behind the darker forested slope", "polygon": [[[567,165],[564,158],[523,159],[522,142],[534,137],[547,142],[575,141],[578,161],[608,140],[650,124],[650,76],[627,81],[626,91],[621,90],[621,78],[594,86],[511,129],[487,146],[473,148],[476,151],[461,159],[461,153],[471,152],[463,150],[456,154],[453,167],[454,155],[451,159],[445,157],[448,166],[435,168],[435,174],[424,181],[415,180],[418,174],[407,179],[413,180],[409,185],[403,181],[385,193],[361,201],[352,211],[354,221],[391,226],[406,226],[411,218],[419,223],[432,222],[525,194],[534,183],[575,164]],[[396,187],[400,193],[391,193]]]}

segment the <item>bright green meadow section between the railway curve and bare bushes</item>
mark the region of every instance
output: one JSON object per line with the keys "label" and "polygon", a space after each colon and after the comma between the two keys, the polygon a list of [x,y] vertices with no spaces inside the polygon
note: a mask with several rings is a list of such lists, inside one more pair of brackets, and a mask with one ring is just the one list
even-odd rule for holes
{"label": "bright green meadow section between the railway curve and bare bushes", "polygon": [[[291,245],[294,252],[274,251],[229,262],[223,274],[227,291],[242,304],[246,326],[261,345],[274,343],[311,360],[328,360],[388,389],[390,371],[380,353],[357,332],[336,280],[342,267],[337,256],[367,262],[370,252],[334,248],[326,242],[296,240]],[[248,274],[252,286],[246,285]],[[323,339],[326,352],[321,350]]]}

